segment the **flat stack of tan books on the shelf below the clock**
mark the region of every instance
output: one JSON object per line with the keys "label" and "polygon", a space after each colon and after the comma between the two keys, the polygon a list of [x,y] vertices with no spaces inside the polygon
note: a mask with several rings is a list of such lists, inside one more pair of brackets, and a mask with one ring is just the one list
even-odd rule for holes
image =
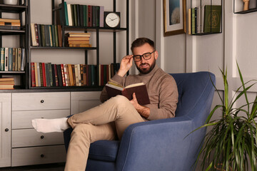
{"label": "flat stack of tan books on the shelf below the clock", "polygon": [[66,33],[66,44],[69,44],[69,47],[91,47],[90,35],[90,33]]}

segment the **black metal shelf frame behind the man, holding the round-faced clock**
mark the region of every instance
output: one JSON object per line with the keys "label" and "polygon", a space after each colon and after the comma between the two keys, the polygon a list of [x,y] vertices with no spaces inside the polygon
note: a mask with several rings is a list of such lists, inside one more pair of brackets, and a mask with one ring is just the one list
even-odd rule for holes
{"label": "black metal shelf frame behind the man, holding the round-faced clock", "polygon": [[[55,24],[55,19],[56,15],[55,13],[58,12],[59,10],[64,10],[64,0],[61,0],[61,6],[55,7],[55,0],[51,0],[51,9],[52,9],[52,24]],[[30,14],[30,6],[28,4],[28,11]],[[113,11],[116,12],[116,0],[113,0]],[[65,14],[64,12],[61,13],[62,19],[65,19]],[[29,15],[28,19],[28,27],[30,28],[31,24],[31,19]],[[62,42],[63,46],[62,47],[42,47],[42,46],[31,46],[31,42],[29,41],[28,47],[29,47],[29,58],[28,58],[28,78],[29,80],[26,81],[28,83],[28,88],[33,89],[33,90],[64,90],[64,91],[72,91],[72,90],[81,90],[81,91],[86,91],[86,90],[102,90],[104,88],[103,86],[66,86],[66,87],[32,87],[31,86],[31,50],[32,49],[68,49],[68,50],[84,50],[85,51],[85,64],[88,64],[88,51],[96,51],[96,65],[99,66],[99,61],[100,61],[100,54],[99,54],[99,33],[100,32],[111,32],[113,33],[113,40],[114,40],[114,58],[113,58],[113,63],[116,63],[116,32],[120,31],[126,31],[126,55],[129,55],[129,0],[126,0],[126,27],[125,28],[105,28],[105,27],[85,27],[85,26],[65,26],[64,20],[61,22],[61,28],[62,28]],[[84,47],[66,47],[65,46],[65,40],[64,40],[64,33],[65,31],[84,31],[85,33],[90,31],[90,32],[96,32],[96,47],[90,47],[90,48],[84,48]],[[29,35],[27,38],[30,39],[30,31]],[[99,71],[97,71],[96,76],[99,76]]]}

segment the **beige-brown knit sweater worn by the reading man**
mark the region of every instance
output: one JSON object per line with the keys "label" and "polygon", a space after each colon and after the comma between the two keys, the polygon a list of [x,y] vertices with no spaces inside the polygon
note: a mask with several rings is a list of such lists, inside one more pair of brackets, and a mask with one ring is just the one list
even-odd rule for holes
{"label": "beige-brown knit sweater worn by the reading man", "polygon": [[[173,118],[175,116],[176,104],[178,103],[178,88],[174,78],[165,73],[161,68],[155,66],[148,74],[129,75],[121,77],[115,75],[111,78],[122,86],[129,86],[133,83],[144,83],[148,91],[150,104],[145,105],[150,108],[148,120],[158,120]],[[102,90],[100,100],[108,100],[106,88]]]}

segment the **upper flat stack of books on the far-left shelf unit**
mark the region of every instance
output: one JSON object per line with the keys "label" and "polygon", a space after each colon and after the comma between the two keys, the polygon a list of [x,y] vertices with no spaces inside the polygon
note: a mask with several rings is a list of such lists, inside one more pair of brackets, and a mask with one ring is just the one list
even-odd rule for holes
{"label": "upper flat stack of books on the far-left shelf unit", "polygon": [[19,19],[0,19],[0,29],[20,30],[21,21]]}

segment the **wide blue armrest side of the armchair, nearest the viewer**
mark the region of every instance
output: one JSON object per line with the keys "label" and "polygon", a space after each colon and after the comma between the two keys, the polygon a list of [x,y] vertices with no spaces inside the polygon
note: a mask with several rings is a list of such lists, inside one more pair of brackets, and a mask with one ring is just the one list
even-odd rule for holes
{"label": "wide blue armrest side of the armchair, nearest the viewer", "polygon": [[121,140],[118,170],[160,170],[161,165],[162,171],[185,170],[192,129],[192,121],[186,117],[130,125]]}

